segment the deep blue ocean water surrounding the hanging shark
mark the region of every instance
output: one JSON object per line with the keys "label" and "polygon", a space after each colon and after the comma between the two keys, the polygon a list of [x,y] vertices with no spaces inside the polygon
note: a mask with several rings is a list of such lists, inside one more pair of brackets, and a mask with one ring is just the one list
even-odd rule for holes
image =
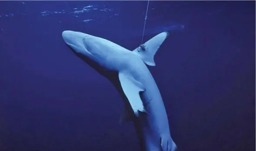
{"label": "deep blue ocean water surrounding the hanging shark", "polygon": [[[123,100],[63,30],[141,41],[147,1],[0,1],[0,151],[139,151]],[[184,28],[183,28],[184,27]],[[255,1],[150,1],[144,41],[178,151],[255,151]]]}

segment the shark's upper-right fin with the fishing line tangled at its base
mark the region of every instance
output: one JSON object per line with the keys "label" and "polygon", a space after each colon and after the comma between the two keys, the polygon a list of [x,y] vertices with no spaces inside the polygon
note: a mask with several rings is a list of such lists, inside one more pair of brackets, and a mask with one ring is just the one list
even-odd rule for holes
{"label": "shark's upper-right fin with the fishing line tangled at its base", "polygon": [[138,48],[134,49],[133,52],[139,54],[143,59],[143,62],[145,62],[147,65],[156,66],[154,56],[168,35],[169,32],[160,33],[146,43],[140,45]]}

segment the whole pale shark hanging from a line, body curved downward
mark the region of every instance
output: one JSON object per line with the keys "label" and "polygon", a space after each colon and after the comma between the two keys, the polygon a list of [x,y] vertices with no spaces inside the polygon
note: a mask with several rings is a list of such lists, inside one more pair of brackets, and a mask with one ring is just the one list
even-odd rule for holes
{"label": "whole pale shark hanging from a line, body curved downward", "polygon": [[73,52],[108,78],[124,100],[120,123],[133,121],[142,151],[176,151],[170,135],[162,97],[146,64],[155,66],[154,55],[168,36],[163,32],[130,51],[107,39],[63,31]]}

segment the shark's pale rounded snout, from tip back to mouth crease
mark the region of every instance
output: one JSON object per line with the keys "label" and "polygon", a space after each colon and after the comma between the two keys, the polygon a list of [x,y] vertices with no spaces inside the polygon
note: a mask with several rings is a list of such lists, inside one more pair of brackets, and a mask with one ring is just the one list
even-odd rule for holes
{"label": "shark's pale rounded snout, from tip back to mouth crease", "polygon": [[83,54],[84,56],[90,57],[91,53],[88,49],[88,38],[91,35],[81,32],[75,32],[66,30],[62,32],[63,40],[69,45],[75,53]]}

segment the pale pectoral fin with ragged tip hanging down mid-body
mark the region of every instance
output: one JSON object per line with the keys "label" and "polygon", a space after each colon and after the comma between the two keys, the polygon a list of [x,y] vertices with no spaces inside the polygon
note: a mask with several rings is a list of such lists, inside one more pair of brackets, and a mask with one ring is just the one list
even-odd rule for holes
{"label": "pale pectoral fin with ragged tip hanging down mid-body", "polygon": [[139,111],[145,112],[143,102],[140,98],[140,92],[146,90],[144,85],[125,72],[119,72],[119,80],[134,114],[138,117]]}

